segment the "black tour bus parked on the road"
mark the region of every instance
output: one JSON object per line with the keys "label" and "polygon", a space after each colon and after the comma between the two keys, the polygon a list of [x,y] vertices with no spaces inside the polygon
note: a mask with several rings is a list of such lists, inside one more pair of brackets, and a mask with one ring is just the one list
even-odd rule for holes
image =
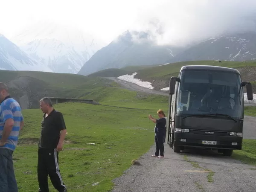
{"label": "black tour bus parked on the road", "polygon": [[169,81],[167,141],[173,152],[208,148],[231,156],[241,150],[244,90],[253,99],[252,85],[238,70],[189,65]]}

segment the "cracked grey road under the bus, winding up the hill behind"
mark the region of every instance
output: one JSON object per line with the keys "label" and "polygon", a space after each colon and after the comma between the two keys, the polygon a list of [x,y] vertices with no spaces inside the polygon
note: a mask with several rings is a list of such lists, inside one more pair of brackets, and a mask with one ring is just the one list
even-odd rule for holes
{"label": "cracked grey road under the bus, winding up the hill behind", "polygon": [[[168,95],[117,78],[108,78],[130,90]],[[249,104],[251,105],[251,104]],[[256,118],[244,117],[244,138],[256,139]],[[153,127],[152,127],[153,131]],[[154,134],[152,134],[154,141]],[[221,153],[187,149],[173,153],[165,145],[165,158],[151,157],[155,145],[140,157],[141,166],[131,166],[113,180],[112,192],[255,192],[256,167],[224,157]]]}

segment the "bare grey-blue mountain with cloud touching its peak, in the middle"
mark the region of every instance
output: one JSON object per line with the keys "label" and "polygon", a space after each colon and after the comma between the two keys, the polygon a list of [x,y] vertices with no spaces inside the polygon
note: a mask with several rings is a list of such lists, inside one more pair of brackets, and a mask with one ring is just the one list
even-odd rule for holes
{"label": "bare grey-blue mountain with cloud touching its peak, in the middle", "polygon": [[157,46],[149,40],[149,36],[146,32],[124,32],[97,51],[78,74],[88,75],[99,70],[129,65],[165,64],[180,51],[176,47]]}

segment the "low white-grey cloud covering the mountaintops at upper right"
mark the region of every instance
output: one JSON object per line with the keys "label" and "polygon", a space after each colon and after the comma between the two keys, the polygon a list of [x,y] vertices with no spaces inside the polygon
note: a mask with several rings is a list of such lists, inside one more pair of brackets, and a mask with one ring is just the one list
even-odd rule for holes
{"label": "low white-grey cloud covering the mountaintops at upper right", "polygon": [[157,44],[185,46],[232,32],[256,31],[255,0],[159,0],[143,10],[132,30]]}

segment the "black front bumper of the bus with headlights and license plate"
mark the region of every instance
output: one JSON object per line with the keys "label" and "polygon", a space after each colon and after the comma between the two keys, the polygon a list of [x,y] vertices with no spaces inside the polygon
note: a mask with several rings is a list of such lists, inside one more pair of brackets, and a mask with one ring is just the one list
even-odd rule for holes
{"label": "black front bumper of the bus with headlights and license plate", "polygon": [[235,149],[241,150],[243,137],[239,136],[216,136],[192,133],[174,134],[174,146],[212,148],[212,149]]}

